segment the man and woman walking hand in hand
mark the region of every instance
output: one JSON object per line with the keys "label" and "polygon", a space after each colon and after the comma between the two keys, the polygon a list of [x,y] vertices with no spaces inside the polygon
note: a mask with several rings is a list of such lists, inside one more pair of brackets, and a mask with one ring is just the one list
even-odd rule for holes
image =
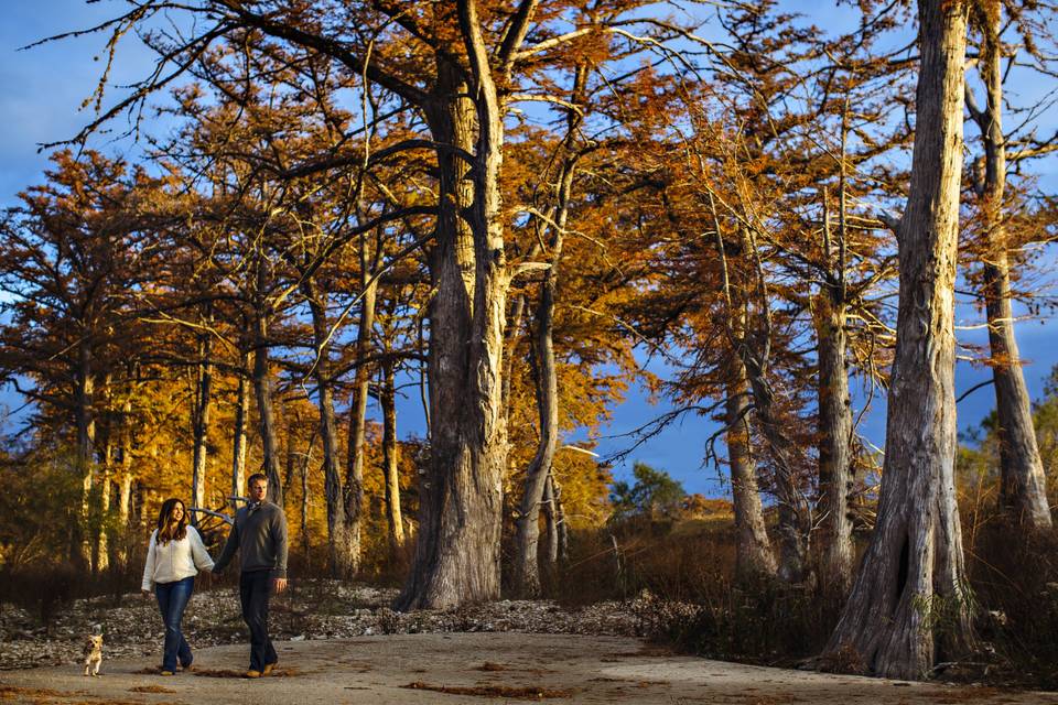
{"label": "man and woman walking hand in hand", "polygon": [[283,510],[264,499],[268,478],[261,474],[247,480],[249,503],[235,514],[220,556],[214,563],[194,527],[187,525],[184,502],[172,498],[162,502],[158,529],[151,534],[143,567],[143,595],[152,592],[165,622],[165,648],[161,674],[173,675],[176,663],[191,666],[194,655],[181,631],[184,608],[194,592],[198,571],[220,573],[239,552],[242,572],[239,598],[242,619],[250,628],[250,668],[246,677],[271,673],[279,658],[268,637],[268,601],[272,593],[287,589],[287,517]]}

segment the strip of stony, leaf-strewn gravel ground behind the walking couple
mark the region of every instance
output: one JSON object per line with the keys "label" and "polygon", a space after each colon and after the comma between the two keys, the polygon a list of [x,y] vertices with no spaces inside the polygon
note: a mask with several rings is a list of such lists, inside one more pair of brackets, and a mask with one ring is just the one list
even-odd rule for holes
{"label": "strip of stony, leaf-strewn gravel ground behind the walking couple", "polygon": [[[445,632],[531,632],[593,636],[644,636],[634,603],[601,603],[565,609],[548,600],[503,600],[455,610],[395,612],[396,589],[335,581],[302,581],[272,599],[271,631],[277,640],[313,641],[377,634]],[[0,604],[0,671],[80,661],[84,637],[98,625],[107,659],[160,652],[164,637],[153,598],[125,596],[76,600],[46,631],[40,619]],[[231,587],[198,590],[184,614],[184,632],[193,649],[245,643],[246,627],[238,593]]]}

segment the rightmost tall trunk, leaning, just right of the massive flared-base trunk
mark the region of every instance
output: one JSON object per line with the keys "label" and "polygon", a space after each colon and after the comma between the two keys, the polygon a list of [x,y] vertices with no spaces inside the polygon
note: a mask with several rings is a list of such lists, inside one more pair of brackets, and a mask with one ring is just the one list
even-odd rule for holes
{"label": "rightmost tall trunk, leaning, just right of the massive flared-base trunk", "polygon": [[[981,61],[987,104],[971,116],[984,143],[984,183],[979,184],[987,249],[982,262],[982,286],[989,319],[992,379],[1000,434],[1000,500],[1016,522],[1029,530],[1050,529],[1047,480],[1036,444],[1028,389],[1022,372],[1011,306],[1011,269],[1003,196],[1006,191],[1006,138],[1003,134],[1002,46],[998,34],[1002,6],[989,17],[981,12]],[[968,93],[968,96],[970,94]]]}

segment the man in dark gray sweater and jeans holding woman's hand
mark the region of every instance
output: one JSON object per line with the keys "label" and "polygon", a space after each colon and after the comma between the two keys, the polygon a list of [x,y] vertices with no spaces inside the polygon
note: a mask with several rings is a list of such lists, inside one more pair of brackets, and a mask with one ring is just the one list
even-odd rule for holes
{"label": "man in dark gray sweater and jeans holding woman's hand", "polygon": [[246,677],[259,679],[271,673],[279,661],[268,638],[268,600],[272,590],[278,594],[287,589],[287,516],[282,508],[264,499],[266,476],[256,473],[246,485],[250,502],[236,512],[235,524],[213,572],[224,571],[235,552],[239,552],[239,599],[242,619],[250,628],[250,669]]}

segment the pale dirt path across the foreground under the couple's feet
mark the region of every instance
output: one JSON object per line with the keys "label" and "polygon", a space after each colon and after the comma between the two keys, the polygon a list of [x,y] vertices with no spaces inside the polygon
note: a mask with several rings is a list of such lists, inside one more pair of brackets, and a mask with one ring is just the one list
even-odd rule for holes
{"label": "pale dirt path across the foreground under the couple's feet", "polygon": [[678,657],[624,637],[444,633],[277,644],[278,677],[247,681],[242,646],[201,649],[195,669],[162,677],[156,659],[0,673],[0,701],[101,705],[368,705],[551,701],[554,703],[958,704],[1054,703],[1058,693],[902,683],[764,669]]}

